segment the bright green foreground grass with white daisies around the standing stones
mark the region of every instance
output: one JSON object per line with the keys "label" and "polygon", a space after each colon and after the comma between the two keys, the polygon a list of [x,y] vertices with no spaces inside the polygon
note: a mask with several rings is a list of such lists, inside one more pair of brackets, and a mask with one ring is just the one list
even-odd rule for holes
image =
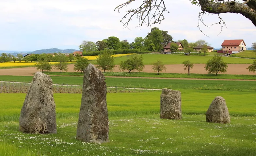
{"label": "bright green foreground grass with white daisies around the standing stones", "polygon": [[[50,135],[19,132],[18,117],[25,94],[0,94],[0,155],[255,154],[253,92],[181,92],[181,121],[159,119],[159,91],[107,94],[110,142],[104,144],[75,139],[81,94],[54,94],[58,134]],[[205,113],[217,95],[226,99],[230,124],[207,123],[205,115],[198,115]]]}

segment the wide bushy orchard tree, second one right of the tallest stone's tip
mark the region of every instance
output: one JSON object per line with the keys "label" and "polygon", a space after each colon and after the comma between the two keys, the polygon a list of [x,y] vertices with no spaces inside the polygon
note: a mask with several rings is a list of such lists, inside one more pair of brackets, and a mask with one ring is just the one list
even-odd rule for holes
{"label": "wide bushy orchard tree, second one right of the tallest stone's tip", "polygon": [[121,61],[119,69],[129,70],[131,73],[132,70],[136,69],[137,71],[142,71],[145,65],[143,64],[142,56],[138,57],[137,55],[128,57],[125,61]]}

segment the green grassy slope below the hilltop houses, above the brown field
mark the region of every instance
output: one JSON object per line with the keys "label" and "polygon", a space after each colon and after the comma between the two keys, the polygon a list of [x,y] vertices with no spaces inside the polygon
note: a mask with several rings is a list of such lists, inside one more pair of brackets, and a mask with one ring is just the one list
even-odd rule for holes
{"label": "green grassy slope below the hilltop houses, above the brown field", "polygon": [[[115,64],[120,64],[127,57],[119,57],[115,59]],[[186,60],[190,60],[193,64],[205,64],[213,56],[197,56],[197,55],[171,55],[171,54],[142,54],[144,64],[153,64],[157,60],[162,60],[164,64],[182,64]],[[252,60],[244,58],[223,57],[223,61],[227,64],[251,64]],[[93,63],[93,62],[92,62]]]}

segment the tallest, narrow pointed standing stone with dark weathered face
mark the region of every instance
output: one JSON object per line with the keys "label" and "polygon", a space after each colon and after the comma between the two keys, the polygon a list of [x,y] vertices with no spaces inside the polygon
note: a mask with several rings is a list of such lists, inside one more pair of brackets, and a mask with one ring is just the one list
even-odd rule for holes
{"label": "tallest, narrow pointed standing stone with dark weathered face", "polygon": [[103,143],[108,140],[107,87],[102,72],[89,64],[84,74],[76,139]]}

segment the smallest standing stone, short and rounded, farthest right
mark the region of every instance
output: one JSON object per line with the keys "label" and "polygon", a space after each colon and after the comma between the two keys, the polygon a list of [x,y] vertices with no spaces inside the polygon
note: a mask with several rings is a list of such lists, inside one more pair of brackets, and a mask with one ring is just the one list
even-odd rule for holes
{"label": "smallest standing stone, short and rounded, farthest right", "polygon": [[223,97],[217,96],[206,112],[206,122],[230,123],[229,110]]}

